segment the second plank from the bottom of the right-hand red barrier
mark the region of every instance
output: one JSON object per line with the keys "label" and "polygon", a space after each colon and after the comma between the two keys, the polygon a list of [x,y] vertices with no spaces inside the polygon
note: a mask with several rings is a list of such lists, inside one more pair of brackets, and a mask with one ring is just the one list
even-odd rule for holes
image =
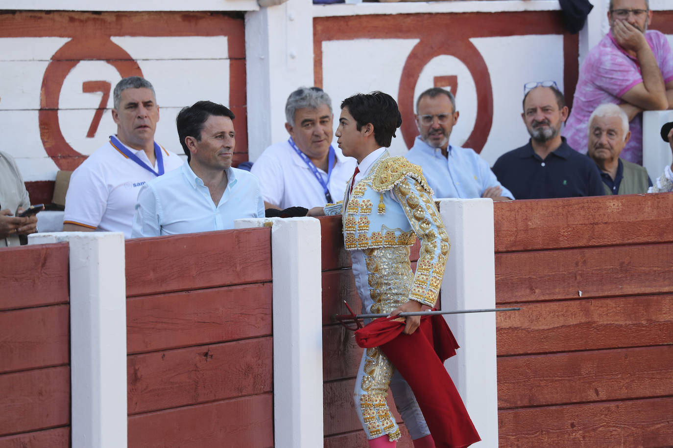
{"label": "second plank from the bottom of the right-hand red barrier", "polygon": [[673,396],[673,345],[499,357],[498,407]]}

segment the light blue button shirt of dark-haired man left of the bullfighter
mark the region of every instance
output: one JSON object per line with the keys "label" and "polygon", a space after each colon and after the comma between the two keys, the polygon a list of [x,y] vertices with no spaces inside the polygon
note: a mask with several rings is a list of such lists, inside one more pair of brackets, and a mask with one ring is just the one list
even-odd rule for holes
{"label": "light blue button shirt of dark-haired man left of the bullfighter", "polygon": [[187,162],[149,181],[138,193],[131,238],[234,228],[239,218],[264,218],[264,201],[254,175],[227,170],[227,187],[215,206],[208,187]]}

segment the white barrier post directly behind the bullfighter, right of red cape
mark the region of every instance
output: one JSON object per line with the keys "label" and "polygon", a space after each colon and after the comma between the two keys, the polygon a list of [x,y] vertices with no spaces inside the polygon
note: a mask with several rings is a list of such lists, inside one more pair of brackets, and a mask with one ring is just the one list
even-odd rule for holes
{"label": "white barrier post directly behind the bullfighter, right of red cape", "polygon": [[[441,309],[495,308],[493,201],[441,199],[439,214],[451,239],[441,284]],[[481,442],[498,446],[495,313],[446,316],[460,349],[445,365]]]}

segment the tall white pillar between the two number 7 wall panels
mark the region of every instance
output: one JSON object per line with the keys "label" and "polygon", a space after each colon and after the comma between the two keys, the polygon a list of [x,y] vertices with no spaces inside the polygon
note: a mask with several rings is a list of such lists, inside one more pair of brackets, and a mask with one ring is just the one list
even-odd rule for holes
{"label": "tall white pillar between the two number 7 wall panels", "polygon": [[312,0],[289,0],[246,13],[248,157],[287,140],[285,101],[314,83]]}

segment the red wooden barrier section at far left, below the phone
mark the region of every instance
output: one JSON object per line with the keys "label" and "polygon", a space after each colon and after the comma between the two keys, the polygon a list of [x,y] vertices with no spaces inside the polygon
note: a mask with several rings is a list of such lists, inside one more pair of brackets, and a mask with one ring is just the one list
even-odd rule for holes
{"label": "red wooden barrier section at far left, below the phone", "polygon": [[68,244],[0,249],[0,284],[0,448],[67,448]]}

